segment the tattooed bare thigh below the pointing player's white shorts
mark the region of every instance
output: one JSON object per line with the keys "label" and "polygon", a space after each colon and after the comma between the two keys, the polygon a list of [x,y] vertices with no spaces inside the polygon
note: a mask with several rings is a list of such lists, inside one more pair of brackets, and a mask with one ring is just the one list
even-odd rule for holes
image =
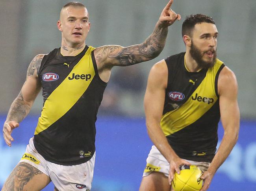
{"label": "tattooed bare thigh below the pointing player's white shorts", "polygon": [[20,162],[15,169],[13,169],[11,175],[7,178],[3,190],[23,191],[24,185],[28,184],[33,176],[41,174],[43,173],[30,164]]}

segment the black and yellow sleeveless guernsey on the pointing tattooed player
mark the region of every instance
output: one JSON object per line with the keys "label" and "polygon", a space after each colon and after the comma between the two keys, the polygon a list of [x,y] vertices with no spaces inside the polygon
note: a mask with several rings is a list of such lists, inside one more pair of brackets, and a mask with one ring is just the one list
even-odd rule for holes
{"label": "black and yellow sleeveless guernsey on the pointing tattooed player", "polygon": [[107,83],[91,46],[76,56],[59,49],[45,55],[39,69],[44,105],[34,135],[37,151],[61,165],[87,162],[95,152],[95,122]]}

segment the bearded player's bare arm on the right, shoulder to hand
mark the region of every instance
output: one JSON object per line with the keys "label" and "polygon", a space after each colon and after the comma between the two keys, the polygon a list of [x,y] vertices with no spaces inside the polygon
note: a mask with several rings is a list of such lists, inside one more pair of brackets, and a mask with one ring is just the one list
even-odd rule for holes
{"label": "bearded player's bare arm on the right, shoulder to hand", "polygon": [[238,139],[240,113],[237,103],[237,81],[236,76],[228,67],[224,67],[219,75],[218,92],[224,136],[208,171],[201,176],[204,179],[201,191],[209,188],[214,174],[226,160]]}

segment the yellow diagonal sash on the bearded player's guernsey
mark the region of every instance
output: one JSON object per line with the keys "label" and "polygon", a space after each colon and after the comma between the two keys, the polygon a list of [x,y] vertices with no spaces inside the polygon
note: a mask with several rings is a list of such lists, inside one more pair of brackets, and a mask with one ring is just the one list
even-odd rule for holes
{"label": "yellow diagonal sash on the bearded player's guernsey", "polygon": [[[217,59],[213,67],[208,69],[205,78],[187,101],[179,108],[167,112],[162,116],[160,126],[165,136],[171,135],[193,124],[215,104],[219,98],[215,91],[215,77],[222,64],[223,62]],[[196,94],[204,95],[206,98],[213,98],[213,102],[210,104],[195,102],[192,100],[192,96],[195,98]]]}

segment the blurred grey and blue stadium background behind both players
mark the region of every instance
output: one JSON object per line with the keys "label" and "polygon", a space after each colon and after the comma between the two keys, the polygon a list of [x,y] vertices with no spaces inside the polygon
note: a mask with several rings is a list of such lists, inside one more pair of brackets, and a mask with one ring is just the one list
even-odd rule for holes
{"label": "blurred grey and blue stadium background behind both players", "polygon": [[[0,0],[0,124],[18,95],[32,58],[60,46],[56,22],[67,0]],[[81,0],[89,11],[87,45],[128,46],[153,31],[167,0]],[[169,27],[163,52],[152,61],[115,67],[99,110],[96,165],[92,191],[136,191],[152,143],[143,111],[147,76],[159,60],[185,50],[181,25],[187,15],[212,16],[219,31],[218,58],[232,69],[239,84],[241,127],[231,155],[217,171],[210,191],[256,190],[256,1],[174,0],[182,20]],[[0,188],[25,151],[42,107],[39,95],[30,116],[13,133],[11,148],[0,136]],[[219,128],[219,138],[223,134]],[[50,191],[50,184],[44,191]]]}

